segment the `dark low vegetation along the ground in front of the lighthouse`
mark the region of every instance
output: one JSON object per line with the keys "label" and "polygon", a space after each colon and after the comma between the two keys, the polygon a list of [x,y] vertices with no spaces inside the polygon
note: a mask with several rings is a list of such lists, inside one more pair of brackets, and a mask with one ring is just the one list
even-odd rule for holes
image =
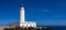
{"label": "dark low vegetation along the ground in front of the lighthouse", "polygon": [[53,30],[52,28],[33,28],[33,27],[29,27],[29,28],[20,28],[20,27],[15,27],[15,28],[4,28],[4,30]]}

